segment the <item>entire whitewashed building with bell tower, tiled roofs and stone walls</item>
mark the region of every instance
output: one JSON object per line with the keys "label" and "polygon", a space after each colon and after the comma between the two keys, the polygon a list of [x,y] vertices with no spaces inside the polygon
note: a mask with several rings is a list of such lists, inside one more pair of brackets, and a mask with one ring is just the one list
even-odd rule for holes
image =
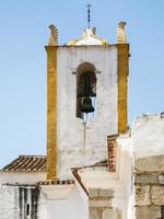
{"label": "entire whitewashed building with bell tower, tiled roofs and stone walls", "polygon": [[1,170],[0,219],[164,218],[164,116],[127,126],[125,24],[116,44],[86,28],[67,45],[50,25],[47,155]]}

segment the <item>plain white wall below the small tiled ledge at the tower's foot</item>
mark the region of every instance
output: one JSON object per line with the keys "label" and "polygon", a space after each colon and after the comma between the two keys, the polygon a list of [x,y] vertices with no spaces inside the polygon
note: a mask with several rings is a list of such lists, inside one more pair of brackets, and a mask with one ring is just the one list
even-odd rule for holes
{"label": "plain white wall below the small tiled ledge at the tower's foot", "polygon": [[[43,211],[45,218],[39,219],[87,219],[89,209],[83,204],[81,195],[75,185],[65,188],[65,185],[42,187],[42,198],[45,201]],[[69,191],[70,189],[70,191]]]}

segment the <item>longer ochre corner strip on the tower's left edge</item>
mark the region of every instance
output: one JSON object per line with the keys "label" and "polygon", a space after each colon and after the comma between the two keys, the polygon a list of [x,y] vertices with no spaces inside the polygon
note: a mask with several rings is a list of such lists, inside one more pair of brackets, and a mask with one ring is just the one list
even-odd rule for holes
{"label": "longer ochre corner strip on the tower's left edge", "polygon": [[47,180],[57,178],[57,46],[47,51]]}

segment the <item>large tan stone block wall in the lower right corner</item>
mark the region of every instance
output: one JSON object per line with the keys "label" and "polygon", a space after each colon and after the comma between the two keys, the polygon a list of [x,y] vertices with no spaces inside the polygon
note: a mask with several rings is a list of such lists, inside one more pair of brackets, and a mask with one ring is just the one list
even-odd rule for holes
{"label": "large tan stone block wall in the lower right corner", "polygon": [[164,155],[134,162],[136,219],[164,219]]}

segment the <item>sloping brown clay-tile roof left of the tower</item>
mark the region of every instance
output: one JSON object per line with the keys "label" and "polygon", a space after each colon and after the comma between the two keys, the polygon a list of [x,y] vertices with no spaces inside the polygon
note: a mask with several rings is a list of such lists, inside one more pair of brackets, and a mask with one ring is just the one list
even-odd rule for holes
{"label": "sloping brown clay-tile roof left of the tower", "polygon": [[46,172],[46,155],[19,155],[2,172]]}

